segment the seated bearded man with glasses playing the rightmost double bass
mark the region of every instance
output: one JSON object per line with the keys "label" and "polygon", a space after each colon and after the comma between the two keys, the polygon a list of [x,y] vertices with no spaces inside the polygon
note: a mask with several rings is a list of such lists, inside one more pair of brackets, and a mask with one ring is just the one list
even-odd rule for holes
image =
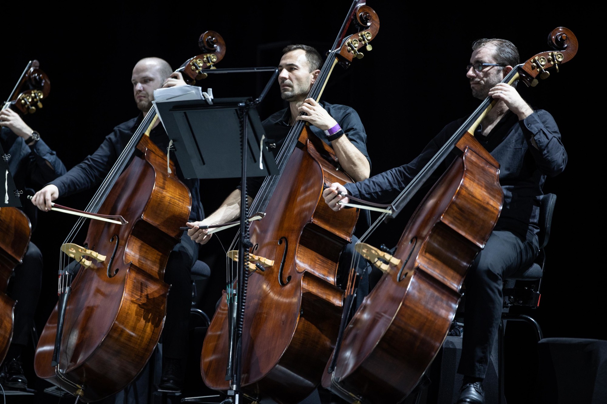
{"label": "seated bearded man with glasses playing the rightmost double bass", "polygon": [[[541,189],[546,176],[554,177],[567,163],[552,116],[544,110],[533,110],[514,87],[501,82],[519,62],[514,44],[503,39],[479,39],[473,42],[472,50],[466,73],[472,95],[498,100],[474,135],[500,163],[504,204],[486,246],[466,275],[466,332],[458,368],[464,383],[457,403],[484,403],[483,379],[500,323],[503,279],[537,257]],[[336,211],[343,207],[339,201],[348,202],[347,195],[392,202],[465,120],[444,127],[409,164],[360,183],[331,184],[323,193],[325,202]],[[445,169],[451,161],[445,159]]]}

